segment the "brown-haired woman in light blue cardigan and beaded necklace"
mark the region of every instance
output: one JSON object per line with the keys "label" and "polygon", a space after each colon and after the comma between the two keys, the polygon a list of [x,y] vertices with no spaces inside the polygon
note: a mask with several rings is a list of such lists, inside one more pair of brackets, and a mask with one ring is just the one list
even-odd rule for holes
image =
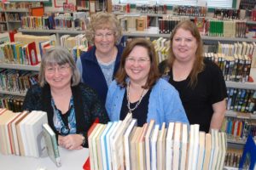
{"label": "brown-haired woman in light blue cardigan and beaded necklace", "polygon": [[138,126],[151,119],[156,124],[189,123],[177,90],[160,78],[154,45],[142,38],[125,47],[105,106],[111,121],[123,120],[131,112]]}

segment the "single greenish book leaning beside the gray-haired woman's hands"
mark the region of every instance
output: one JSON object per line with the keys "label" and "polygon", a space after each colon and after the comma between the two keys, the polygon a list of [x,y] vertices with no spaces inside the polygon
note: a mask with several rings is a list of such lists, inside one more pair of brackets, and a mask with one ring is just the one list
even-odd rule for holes
{"label": "single greenish book leaning beside the gray-haired woman's hands", "polygon": [[55,137],[55,132],[51,129],[51,127],[49,127],[48,123],[43,124],[43,135],[49,158],[57,167],[61,167],[61,156]]}

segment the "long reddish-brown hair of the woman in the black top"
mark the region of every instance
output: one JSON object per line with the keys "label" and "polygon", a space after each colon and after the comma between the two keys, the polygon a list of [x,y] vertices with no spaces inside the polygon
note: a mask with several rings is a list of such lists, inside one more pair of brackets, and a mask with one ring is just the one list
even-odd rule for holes
{"label": "long reddish-brown hair of the woman in the black top", "polygon": [[197,83],[197,75],[203,71],[204,69],[204,62],[203,62],[203,45],[201,40],[201,35],[195,26],[195,24],[190,20],[183,20],[177,24],[177,26],[173,29],[172,35],[170,37],[171,40],[171,48],[169,50],[169,59],[168,59],[168,65],[170,68],[172,68],[173,62],[175,60],[175,55],[172,51],[172,44],[173,44],[173,37],[175,36],[178,29],[182,28],[183,30],[190,31],[193,37],[195,37],[197,42],[197,49],[195,52],[195,61],[194,66],[189,74],[189,87],[194,88]]}

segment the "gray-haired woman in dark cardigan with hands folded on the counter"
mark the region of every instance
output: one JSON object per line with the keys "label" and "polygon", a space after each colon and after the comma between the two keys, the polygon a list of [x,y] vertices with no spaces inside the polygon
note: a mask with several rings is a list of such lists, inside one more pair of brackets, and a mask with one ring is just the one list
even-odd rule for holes
{"label": "gray-haired woman in dark cardigan with hands folded on the counter", "polygon": [[58,144],[67,150],[88,147],[87,131],[96,118],[109,121],[96,92],[80,82],[66,48],[50,48],[42,58],[38,84],[26,93],[23,110],[45,111]]}

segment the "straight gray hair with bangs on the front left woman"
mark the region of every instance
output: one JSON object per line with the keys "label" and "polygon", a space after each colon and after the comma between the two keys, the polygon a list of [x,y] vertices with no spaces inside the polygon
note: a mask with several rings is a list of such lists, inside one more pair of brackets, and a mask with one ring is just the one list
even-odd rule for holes
{"label": "straight gray hair with bangs on the front left woman", "polygon": [[67,48],[63,48],[61,46],[49,48],[46,50],[40,66],[39,71],[39,84],[41,87],[44,87],[44,84],[46,84],[45,80],[45,68],[47,65],[65,65],[68,64],[72,70],[72,82],[71,85],[75,86],[78,85],[80,82],[80,75],[79,70],[73,60],[73,57],[67,50]]}

